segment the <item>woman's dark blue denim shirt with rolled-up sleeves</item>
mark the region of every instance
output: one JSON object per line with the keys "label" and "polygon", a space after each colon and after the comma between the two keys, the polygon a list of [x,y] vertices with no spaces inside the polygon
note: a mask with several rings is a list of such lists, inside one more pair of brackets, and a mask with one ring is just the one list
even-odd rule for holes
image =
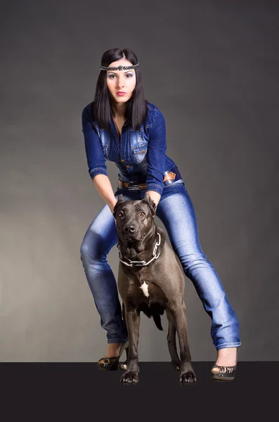
{"label": "woman's dark blue denim shirt with rolled-up sleeves", "polygon": [[146,183],[146,191],[162,195],[166,187],[163,173],[175,163],[166,155],[166,124],[159,108],[147,102],[148,115],[141,130],[134,130],[126,120],[119,141],[115,122],[111,120],[112,131],[99,129],[91,106],[89,103],[82,110],[82,132],[91,179],[97,174],[108,175],[105,161],[113,161],[120,180]]}

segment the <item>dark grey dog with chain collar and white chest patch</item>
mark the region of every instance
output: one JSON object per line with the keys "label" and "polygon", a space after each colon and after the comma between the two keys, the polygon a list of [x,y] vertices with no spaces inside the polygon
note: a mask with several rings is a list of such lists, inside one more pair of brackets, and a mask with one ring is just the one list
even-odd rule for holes
{"label": "dark grey dog with chain collar and white chest patch", "polygon": [[[162,330],[164,311],[169,321],[167,343],[174,369],[180,370],[181,383],[196,381],[188,345],[184,273],[181,262],[156,226],[156,204],[148,194],[143,200],[124,200],[120,194],[113,210],[117,226],[119,273],[117,286],[122,298],[129,347],[122,382],[138,382],[138,335],[141,311]],[[176,350],[179,337],[180,359]]]}

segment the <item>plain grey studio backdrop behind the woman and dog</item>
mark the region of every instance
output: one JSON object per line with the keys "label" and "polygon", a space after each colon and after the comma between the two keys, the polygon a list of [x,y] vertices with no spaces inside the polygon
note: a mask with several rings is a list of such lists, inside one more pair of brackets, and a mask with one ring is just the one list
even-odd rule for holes
{"label": "plain grey studio backdrop behind the woman and dog", "polygon": [[[105,353],[79,257],[105,205],[88,175],[81,113],[115,47],[135,51],[145,96],[166,119],[167,155],[240,321],[239,359],[278,359],[276,3],[2,2],[1,361]],[[108,260],[117,276],[117,248]],[[187,278],[185,298],[193,360],[213,361],[211,321]],[[162,323],[163,333],[142,315],[141,361],[169,361]]]}

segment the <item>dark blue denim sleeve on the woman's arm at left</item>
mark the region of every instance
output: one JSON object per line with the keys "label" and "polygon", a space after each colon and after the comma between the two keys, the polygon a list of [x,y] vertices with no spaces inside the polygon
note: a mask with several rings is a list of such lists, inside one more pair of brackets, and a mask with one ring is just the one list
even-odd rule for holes
{"label": "dark blue denim sleeve on the woman's arm at left", "polygon": [[100,138],[94,128],[88,107],[82,110],[82,132],[84,134],[84,146],[87,158],[89,176],[93,179],[97,174],[108,176],[107,166]]}

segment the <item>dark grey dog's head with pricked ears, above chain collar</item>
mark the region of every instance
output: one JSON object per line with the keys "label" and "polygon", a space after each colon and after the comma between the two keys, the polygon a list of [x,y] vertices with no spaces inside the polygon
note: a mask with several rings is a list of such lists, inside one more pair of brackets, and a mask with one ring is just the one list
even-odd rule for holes
{"label": "dark grey dog's head with pricked ears, above chain collar", "polygon": [[156,204],[148,193],[143,200],[124,200],[120,194],[113,210],[118,238],[141,241],[153,229]]}

